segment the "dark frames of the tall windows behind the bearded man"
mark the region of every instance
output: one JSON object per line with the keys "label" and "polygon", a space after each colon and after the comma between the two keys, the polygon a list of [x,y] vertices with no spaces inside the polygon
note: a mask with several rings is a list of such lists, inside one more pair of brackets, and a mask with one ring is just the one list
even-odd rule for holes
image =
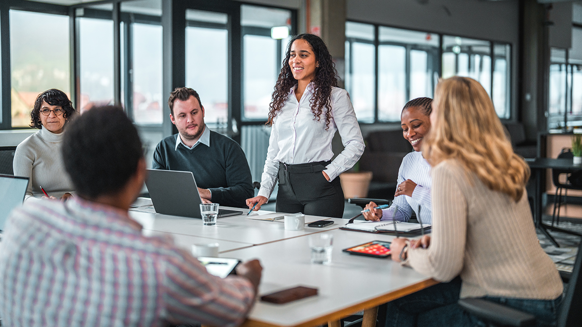
{"label": "dark frames of the tall windows behind the bearded man", "polygon": [[[79,108],[80,99],[80,87],[77,82],[80,76],[80,62],[79,62],[79,33],[77,27],[77,9],[84,9],[83,16],[88,18],[97,19],[111,19],[113,20],[113,79],[114,79],[114,101],[116,103],[121,103],[123,94],[123,106],[127,114],[134,120],[133,117],[133,99],[132,99],[132,81],[130,79],[130,69],[132,68],[133,62],[132,58],[132,32],[130,29],[130,24],[143,23],[143,24],[154,24],[160,25],[162,28],[164,26],[164,19],[162,17],[154,15],[145,15],[143,13],[129,13],[123,12],[120,8],[122,2],[127,2],[131,0],[109,0],[109,1],[94,1],[94,2],[81,2],[74,5],[56,5],[52,3],[44,2],[34,2],[27,0],[5,0],[0,2],[0,29],[3,33],[0,34],[0,67],[2,72],[0,74],[0,130],[13,130],[13,129],[29,129],[27,127],[12,127],[12,119],[10,118],[10,88],[11,88],[11,71],[10,71],[10,29],[9,29],[9,10],[23,10],[29,12],[38,13],[51,13],[63,16],[69,16],[69,47],[70,47],[70,86],[71,86],[71,101],[73,102],[75,108]],[[166,0],[163,0],[164,2]],[[249,30],[249,27],[243,27],[240,24],[240,10],[242,5],[252,5],[260,6],[264,8],[274,8],[289,10],[291,14],[291,29],[290,34],[294,35],[297,33],[297,9],[285,8],[282,6],[274,5],[264,5],[261,3],[253,2],[239,2],[234,0],[216,0],[213,2],[208,2],[205,0],[167,0],[172,2],[173,12],[172,15],[175,17],[177,13],[182,12],[183,23],[186,26],[197,26],[197,27],[209,27],[203,26],[206,24],[211,24],[212,28],[226,28],[229,30],[229,42],[228,42],[228,127],[225,129],[225,134],[233,137],[236,141],[240,141],[240,127],[246,125],[263,125],[266,119],[242,119],[244,110],[244,94],[243,94],[243,74],[242,74],[242,64],[243,64],[243,36],[245,34],[255,34],[257,31]],[[162,8],[165,3],[162,2]],[[113,9],[111,12],[103,9],[90,8],[94,5],[102,5],[111,3]],[[186,10],[187,9],[197,9],[206,10],[212,12],[226,13],[229,16],[228,23],[225,26],[222,24],[212,24],[212,23],[201,23],[201,22],[187,22],[186,21]],[[132,17],[133,19],[132,20]],[[120,23],[123,24],[120,26]],[[179,24],[178,24],[179,25]],[[217,26],[214,26],[217,25]],[[218,26],[221,25],[221,26]],[[176,26],[172,22],[172,27]],[[243,30],[244,33],[243,34]],[[181,34],[184,32],[178,32]],[[231,35],[232,34],[232,35]],[[258,35],[262,35],[258,34]],[[173,42],[176,42],[176,38],[173,38]],[[182,40],[185,44],[185,40]],[[278,40],[278,44],[281,40]],[[162,44],[162,52],[166,52],[166,46]],[[123,53],[123,56],[120,54]],[[173,52],[172,56],[175,57],[177,52]],[[279,54],[278,54],[279,56]],[[277,58],[278,62],[282,61],[282,58]],[[185,59],[184,59],[185,60]],[[123,63],[122,63],[123,61]],[[180,66],[180,62],[176,62]],[[240,67],[240,68],[237,68]],[[123,68],[123,69],[122,69]],[[178,67],[180,68],[180,67]],[[166,72],[165,65],[162,66],[163,75],[175,74],[176,67],[172,68],[171,72]],[[183,68],[183,67],[182,67]],[[184,74],[183,72],[181,73]],[[178,80],[180,79],[180,73],[178,73]],[[173,78],[173,80],[176,80]],[[123,83],[122,83],[123,81]],[[182,84],[185,80],[182,82]],[[162,94],[164,93],[162,89]],[[6,110],[8,108],[8,110]],[[150,130],[150,131],[161,131],[162,133],[168,131],[168,126],[171,126],[169,122],[169,117],[166,117],[166,112],[164,109],[164,122],[159,124],[140,124],[137,125],[139,129]],[[236,126],[235,126],[236,125]],[[175,129],[172,129],[175,133]]]}

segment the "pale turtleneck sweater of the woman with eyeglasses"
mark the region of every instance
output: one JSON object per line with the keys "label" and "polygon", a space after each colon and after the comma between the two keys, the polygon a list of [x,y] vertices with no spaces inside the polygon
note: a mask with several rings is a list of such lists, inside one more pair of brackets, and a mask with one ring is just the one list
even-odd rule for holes
{"label": "pale turtleneck sweater of the woman with eyeglasses", "polygon": [[42,128],[16,147],[12,163],[14,175],[29,177],[24,201],[44,196],[41,186],[49,196],[56,198],[72,193],[73,184],[65,172],[61,153],[64,135],[64,131],[55,134]]}

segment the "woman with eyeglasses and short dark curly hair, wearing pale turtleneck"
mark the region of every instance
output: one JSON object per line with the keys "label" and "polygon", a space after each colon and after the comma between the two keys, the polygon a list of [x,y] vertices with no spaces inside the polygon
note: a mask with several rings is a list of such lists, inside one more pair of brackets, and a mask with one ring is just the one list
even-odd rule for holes
{"label": "woman with eyeglasses and short dark curly hair, wearing pale turtleneck", "polygon": [[61,145],[67,122],[76,114],[72,102],[63,91],[52,88],[38,95],[30,112],[30,127],[39,129],[16,147],[13,169],[15,176],[29,177],[24,200],[47,198],[67,200],[73,184],[65,172]]}

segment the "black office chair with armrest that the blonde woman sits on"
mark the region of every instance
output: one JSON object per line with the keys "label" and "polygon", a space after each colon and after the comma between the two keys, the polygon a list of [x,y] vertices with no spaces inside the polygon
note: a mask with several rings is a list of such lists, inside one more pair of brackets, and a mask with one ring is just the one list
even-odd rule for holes
{"label": "black office chair with armrest that the blonde woman sits on", "polygon": [[[580,326],[582,321],[582,241],[578,246],[576,262],[565,287],[562,304],[558,309],[557,327]],[[493,326],[531,326],[535,325],[535,316],[505,305],[483,300],[481,298],[463,298],[459,305],[470,314],[488,321]]]}

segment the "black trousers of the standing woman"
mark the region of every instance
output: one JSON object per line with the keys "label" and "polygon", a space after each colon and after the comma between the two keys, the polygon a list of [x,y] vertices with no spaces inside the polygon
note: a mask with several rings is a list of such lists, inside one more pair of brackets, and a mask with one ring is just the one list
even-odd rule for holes
{"label": "black trousers of the standing woman", "polygon": [[321,172],[330,162],[279,162],[276,211],[342,218],[344,200],[339,177],[328,182]]}

